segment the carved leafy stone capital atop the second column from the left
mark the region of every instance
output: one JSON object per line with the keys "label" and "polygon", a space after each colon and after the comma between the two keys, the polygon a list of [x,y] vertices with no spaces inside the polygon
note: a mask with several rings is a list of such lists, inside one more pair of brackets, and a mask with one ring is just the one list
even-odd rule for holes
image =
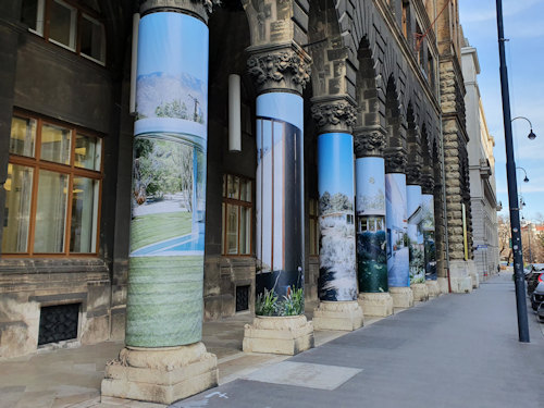
{"label": "carved leafy stone capital atop the second column from the left", "polygon": [[290,90],[302,95],[310,81],[311,59],[299,46],[259,47],[248,51],[251,53],[247,60],[248,72],[259,94]]}

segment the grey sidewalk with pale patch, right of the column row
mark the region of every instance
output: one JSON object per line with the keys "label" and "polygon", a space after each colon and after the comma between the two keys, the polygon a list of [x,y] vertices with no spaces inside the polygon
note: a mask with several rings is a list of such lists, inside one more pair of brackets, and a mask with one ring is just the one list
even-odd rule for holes
{"label": "grey sidewalk with pale patch, right of the column row", "polygon": [[544,334],[520,344],[511,274],[346,334],[176,408],[544,407]]}

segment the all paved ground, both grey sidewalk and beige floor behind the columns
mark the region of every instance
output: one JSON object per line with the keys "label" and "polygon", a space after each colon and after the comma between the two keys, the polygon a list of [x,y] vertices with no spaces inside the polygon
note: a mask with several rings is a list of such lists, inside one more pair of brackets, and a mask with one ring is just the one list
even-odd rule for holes
{"label": "all paved ground, both grey sidewalk and beige floor behind the columns", "polygon": [[[314,306],[307,306],[309,318]],[[249,314],[206,322],[203,342],[218,356],[222,385],[174,406],[542,408],[544,324],[529,317],[532,343],[521,345],[507,274],[471,295],[367,320],[354,333],[317,331],[317,348],[294,358],[243,353]],[[100,400],[106,362],[122,347],[107,342],[0,360],[0,408],[163,407]]]}

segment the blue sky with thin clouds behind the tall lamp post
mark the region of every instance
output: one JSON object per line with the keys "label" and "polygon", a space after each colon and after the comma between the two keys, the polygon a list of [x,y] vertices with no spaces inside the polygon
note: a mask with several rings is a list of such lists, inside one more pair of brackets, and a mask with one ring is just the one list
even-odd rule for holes
{"label": "blue sky with thin clouds behind the tall lamp post", "polygon": [[[504,141],[503,111],[497,45],[495,0],[460,0],[460,22],[465,37],[478,49],[481,74],[480,92],[487,119],[490,133],[495,137],[495,174],[497,196],[503,201],[502,214],[508,213],[506,189],[506,152]],[[518,190],[527,207],[526,219],[544,215],[544,1],[503,0],[506,58],[510,83],[510,106],[512,118],[527,116],[533,124],[536,139],[530,141],[529,124],[514,122],[516,165],[527,170],[518,171]]]}

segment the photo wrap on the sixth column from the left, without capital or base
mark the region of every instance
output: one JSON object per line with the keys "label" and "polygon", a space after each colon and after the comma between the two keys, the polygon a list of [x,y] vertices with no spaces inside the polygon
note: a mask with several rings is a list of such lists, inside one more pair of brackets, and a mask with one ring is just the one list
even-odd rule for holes
{"label": "photo wrap on the sixth column from the left, without capital or base", "polygon": [[410,283],[425,282],[421,186],[406,186]]}

